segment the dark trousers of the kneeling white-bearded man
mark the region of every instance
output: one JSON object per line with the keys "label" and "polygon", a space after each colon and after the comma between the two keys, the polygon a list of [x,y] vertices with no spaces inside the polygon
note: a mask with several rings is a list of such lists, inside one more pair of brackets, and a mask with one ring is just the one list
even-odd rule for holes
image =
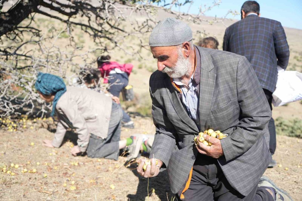
{"label": "dark trousers of the kneeling white-bearded man", "polygon": [[[206,155],[198,155],[190,186],[183,194],[185,201],[274,201],[263,187],[255,186],[247,196],[238,193],[226,180],[217,160]],[[181,200],[178,195],[176,197]]]}

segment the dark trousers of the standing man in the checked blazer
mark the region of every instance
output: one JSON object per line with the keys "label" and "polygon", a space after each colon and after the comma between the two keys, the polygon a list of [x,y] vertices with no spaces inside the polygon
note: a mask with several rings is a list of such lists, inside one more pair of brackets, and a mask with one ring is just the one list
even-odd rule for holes
{"label": "dark trousers of the standing man in the checked blazer", "polygon": [[[267,89],[263,89],[265,97],[268,101],[269,107],[271,110],[273,109],[271,106],[271,101],[273,100],[272,92],[268,91]],[[275,121],[271,118],[268,122],[268,131],[269,131],[269,151],[271,155],[275,153],[276,150],[276,128],[275,128]]]}

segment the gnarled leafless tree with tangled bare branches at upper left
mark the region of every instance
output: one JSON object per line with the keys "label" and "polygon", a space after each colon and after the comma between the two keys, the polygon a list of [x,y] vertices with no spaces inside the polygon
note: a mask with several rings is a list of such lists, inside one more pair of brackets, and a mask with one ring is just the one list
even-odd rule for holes
{"label": "gnarled leafless tree with tangled bare branches at upper left", "polygon": [[[33,90],[38,71],[51,72],[63,78],[67,69],[77,74],[80,68],[95,67],[92,53],[112,50],[140,56],[149,49],[143,37],[158,22],[158,12],[176,18],[201,22],[204,13],[213,5],[200,6],[198,14],[177,12],[175,8],[192,5],[190,0],[0,0],[0,116],[18,114],[20,108],[39,99]],[[234,14],[229,11],[227,14]],[[138,18],[138,16],[141,16]],[[52,19],[48,26],[39,18]],[[98,48],[86,48],[75,40],[74,30],[88,34]],[[64,44],[61,41],[64,37]],[[58,44],[59,43],[59,44]],[[85,43],[82,42],[82,43]],[[42,107],[42,111],[43,107]]]}

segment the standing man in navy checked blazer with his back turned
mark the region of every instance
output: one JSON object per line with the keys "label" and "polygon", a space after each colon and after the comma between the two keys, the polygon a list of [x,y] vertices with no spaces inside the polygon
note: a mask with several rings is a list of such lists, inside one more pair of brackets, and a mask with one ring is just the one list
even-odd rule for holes
{"label": "standing man in navy checked blazer with his back turned", "polygon": [[[277,65],[284,70],[288,65],[289,47],[280,22],[260,18],[260,6],[255,1],[246,1],[241,7],[241,20],[225,31],[223,50],[245,56],[259,79],[266,99],[271,107],[272,94],[277,83]],[[274,119],[268,123],[270,134],[269,150],[276,150],[276,129]],[[269,168],[276,165],[271,159]]]}

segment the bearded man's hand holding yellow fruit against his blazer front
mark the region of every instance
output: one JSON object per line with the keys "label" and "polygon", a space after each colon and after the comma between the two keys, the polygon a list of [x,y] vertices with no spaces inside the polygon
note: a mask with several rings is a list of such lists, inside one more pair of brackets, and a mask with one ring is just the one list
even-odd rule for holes
{"label": "bearded man's hand holding yellow fruit against his blazer front", "polygon": [[196,148],[199,153],[208,155],[212,158],[219,158],[223,155],[223,150],[221,147],[220,140],[209,135],[204,134],[204,139],[212,143],[211,146],[204,145],[202,142],[199,142],[199,137],[197,139],[198,145]]}

